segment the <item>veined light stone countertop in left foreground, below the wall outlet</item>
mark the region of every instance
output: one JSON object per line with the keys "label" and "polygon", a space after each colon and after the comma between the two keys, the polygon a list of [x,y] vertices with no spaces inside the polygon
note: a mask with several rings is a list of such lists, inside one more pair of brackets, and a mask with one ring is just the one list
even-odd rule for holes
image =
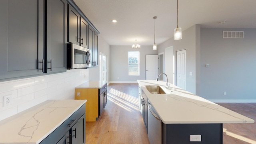
{"label": "veined light stone countertop in left foreground, below the wall outlet", "polygon": [[0,121],[0,144],[39,144],[87,100],[47,100]]}

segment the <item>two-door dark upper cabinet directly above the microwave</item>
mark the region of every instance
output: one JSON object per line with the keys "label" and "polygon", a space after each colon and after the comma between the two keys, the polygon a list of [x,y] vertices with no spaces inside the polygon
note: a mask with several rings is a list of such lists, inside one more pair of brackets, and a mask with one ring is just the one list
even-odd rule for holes
{"label": "two-door dark upper cabinet directly above the microwave", "polygon": [[68,42],[88,48],[88,23],[72,6],[68,8]]}

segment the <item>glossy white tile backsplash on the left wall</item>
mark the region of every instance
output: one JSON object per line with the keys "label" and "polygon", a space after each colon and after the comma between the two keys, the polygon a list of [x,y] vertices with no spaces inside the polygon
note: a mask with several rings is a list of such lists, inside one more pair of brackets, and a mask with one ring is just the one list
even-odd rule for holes
{"label": "glossy white tile backsplash on the left wall", "polygon": [[[0,120],[46,100],[74,99],[75,87],[86,81],[88,69],[0,82]],[[12,96],[12,104],[3,107],[6,95]]]}

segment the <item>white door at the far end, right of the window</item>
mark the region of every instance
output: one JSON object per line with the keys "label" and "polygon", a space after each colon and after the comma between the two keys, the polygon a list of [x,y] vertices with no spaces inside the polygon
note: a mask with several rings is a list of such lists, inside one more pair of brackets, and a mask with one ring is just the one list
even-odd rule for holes
{"label": "white door at the far end, right of the window", "polygon": [[156,80],[158,75],[158,55],[146,55],[146,80]]}

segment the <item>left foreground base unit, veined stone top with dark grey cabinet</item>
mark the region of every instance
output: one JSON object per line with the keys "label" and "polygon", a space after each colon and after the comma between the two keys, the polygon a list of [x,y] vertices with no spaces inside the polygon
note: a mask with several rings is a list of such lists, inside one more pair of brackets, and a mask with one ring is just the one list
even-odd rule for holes
{"label": "left foreground base unit, veined stone top with dark grey cabinet", "polygon": [[0,144],[83,144],[86,101],[47,100],[6,118],[0,121]]}

